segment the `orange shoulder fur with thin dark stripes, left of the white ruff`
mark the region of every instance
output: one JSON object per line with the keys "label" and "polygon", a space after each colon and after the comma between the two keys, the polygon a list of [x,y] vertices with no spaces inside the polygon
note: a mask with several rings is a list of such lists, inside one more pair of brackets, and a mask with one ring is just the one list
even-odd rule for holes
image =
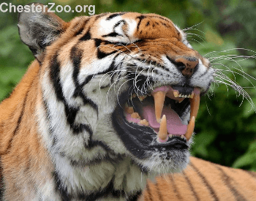
{"label": "orange shoulder fur with thin dark stripes, left of the white ruff", "polygon": [[[1,167],[4,188],[7,189],[5,194],[10,200],[31,197],[29,189],[21,195],[16,190],[18,186],[30,186],[34,176],[47,181],[51,176],[49,170],[53,170],[48,153],[37,134],[35,107],[39,101],[38,73],[39,64],[34,61],[11,96],[0,105]],[[24,174],[31,175],[31,181]]]}

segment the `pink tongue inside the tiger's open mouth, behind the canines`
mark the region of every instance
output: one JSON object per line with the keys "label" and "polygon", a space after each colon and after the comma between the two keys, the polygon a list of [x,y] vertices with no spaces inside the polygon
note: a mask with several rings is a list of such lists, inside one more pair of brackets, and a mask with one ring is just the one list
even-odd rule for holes
{"label": "pink tongue inside the tiger's open mouth, behind the canines", "polygon": [[[154,107],[150,105],[143,107],[143,115],[149,123],[149,126],[156,132],[159,132],[160,124],[157,123],[156,115],[154,113]],[[181,123],[181,119],[178,114],[170,109],[170,107],[164,107],[162,109],[162,115],[166,115],[167,119],[167,131],[169,134],[182,135],[187,132],[187,125]]]}

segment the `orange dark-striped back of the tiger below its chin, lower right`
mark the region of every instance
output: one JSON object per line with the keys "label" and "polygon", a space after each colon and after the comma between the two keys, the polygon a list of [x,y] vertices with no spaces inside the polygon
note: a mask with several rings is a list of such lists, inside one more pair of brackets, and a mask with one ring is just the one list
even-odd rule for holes
{"label": "orange dark-striped back of the tiger below its chin, lower right", "polygon": [[183,172],[148,181],[140,200],[255,200],[255,192],[256,172],[190,157]]}

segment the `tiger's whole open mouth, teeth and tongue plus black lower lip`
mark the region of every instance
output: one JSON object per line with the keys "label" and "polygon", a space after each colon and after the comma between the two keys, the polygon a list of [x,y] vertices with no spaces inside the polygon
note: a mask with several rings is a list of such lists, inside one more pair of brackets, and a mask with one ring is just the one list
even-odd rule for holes
{"label": "tiger's whole open mouth, teeth and tongue plus black lower lip", "polygon": [[183,153],[189,148],[200,105],[200,88],[159,86],[147,95],[127,95],[124,92],[119,96],[121,107],[116,107],[112,118],[131,153],[143,159],[150,151]]}

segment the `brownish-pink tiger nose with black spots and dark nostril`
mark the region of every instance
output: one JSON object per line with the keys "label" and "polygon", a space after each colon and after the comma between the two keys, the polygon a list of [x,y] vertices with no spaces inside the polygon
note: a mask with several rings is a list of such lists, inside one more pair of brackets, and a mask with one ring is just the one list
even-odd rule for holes
{"label": "brownish-pink tiger nose with black spots and dark nostril", "polygon": [[181,71],[182,75],[186,77],[191,77],[195,73],[199,63],[198,59],[195,57],[176,58],[175,62],[178,70]]}

